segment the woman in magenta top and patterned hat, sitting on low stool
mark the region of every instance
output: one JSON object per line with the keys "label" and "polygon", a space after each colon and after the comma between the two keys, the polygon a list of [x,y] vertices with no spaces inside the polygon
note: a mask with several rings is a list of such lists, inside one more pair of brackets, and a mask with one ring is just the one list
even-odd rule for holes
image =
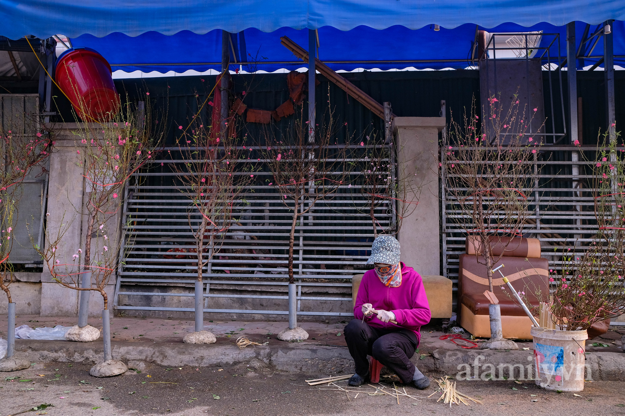
{"label": "woman in magenta top and patterned hat, sitting on low stool", "polygon": [[377,237],[367,264],[375,268],[362,277],[354,316],[345,327],[345,340],[356,374],[348,384],[358,386],[370,379],[367,355],[386,365],[403,383],[426,389],[430,380],[410,362],[419,345],[421,325],[431,319],[421,276],[399,261],[399,241],[389,235]]}

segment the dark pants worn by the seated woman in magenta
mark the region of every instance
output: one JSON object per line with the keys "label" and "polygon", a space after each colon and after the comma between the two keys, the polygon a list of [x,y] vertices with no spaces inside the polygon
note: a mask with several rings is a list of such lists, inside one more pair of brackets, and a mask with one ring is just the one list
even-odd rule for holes
{"label": "dark pants worn by the seated woman in magenta", "polygon": [[362,377],[369,374],[367,355],[371,355],[397,374],[402,382],[412,381],[414,364],[410,359],[418,344],[414,332],[407,329],[389,331],[373,328],[366,322],[352,319],[345,327],[344,334],[349,354],[356,363],[356,374]]}

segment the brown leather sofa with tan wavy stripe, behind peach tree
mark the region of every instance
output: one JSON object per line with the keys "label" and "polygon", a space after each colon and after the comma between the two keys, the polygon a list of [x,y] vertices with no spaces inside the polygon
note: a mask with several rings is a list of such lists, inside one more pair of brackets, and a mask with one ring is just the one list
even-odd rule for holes
{"label": "brown leather sofa with tan wavy stripe, behind peach tree", "polygon": [[[514,289],[525,292],[532,305],[538,305],[534,295],[549,292],[549,263],[541,257],[541,246],[537,239],[513,238],[506,245],[491,240],[494,255],[503,257],[493,268],[504,264],[501,269]],[[488,290],[488,275],[479,243],[469,236],[466,240],[466,253],[460,256],[458,269],[458,308],[460,325],[476,337],[490,337],[491,326],[488,314],[489,300],[484,295]],[[492,275],[492,290],[501,305],[501,325],[503,335],[512,339],[532,339],[529,329],[532,321],[521,306],[517,305],[512,293],[504,284],[499,272]]]}

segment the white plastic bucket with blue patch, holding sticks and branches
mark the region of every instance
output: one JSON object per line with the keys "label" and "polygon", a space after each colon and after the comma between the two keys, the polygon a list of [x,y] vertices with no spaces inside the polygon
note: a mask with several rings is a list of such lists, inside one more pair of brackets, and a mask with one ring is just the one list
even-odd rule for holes
{"label": "white plastic bucket with blue patch, holding sticks and branches", "polygon": [[534,339],[534,379],[547,390],[584,390],[586,339],[583,331],[531,327]]}

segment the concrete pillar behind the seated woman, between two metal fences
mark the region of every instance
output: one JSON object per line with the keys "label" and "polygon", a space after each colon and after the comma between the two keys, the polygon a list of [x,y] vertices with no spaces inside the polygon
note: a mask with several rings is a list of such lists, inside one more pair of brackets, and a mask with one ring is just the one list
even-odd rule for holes
{"label": "concrete pillar behind the seated woman, between two metal fences", "polygon": [[[409,187],[421,186],[420,196],[408,194],[406,201],[418,198],[411,215],[402,220],[397,235],[401,259],[421,275],[441,274],[440,210],[438,184],[438,134],[445,117],[395,117],[397,177]],[[397,196],[401,197],[401,196]],[[401,212],[402,202],[398,202]]]}

